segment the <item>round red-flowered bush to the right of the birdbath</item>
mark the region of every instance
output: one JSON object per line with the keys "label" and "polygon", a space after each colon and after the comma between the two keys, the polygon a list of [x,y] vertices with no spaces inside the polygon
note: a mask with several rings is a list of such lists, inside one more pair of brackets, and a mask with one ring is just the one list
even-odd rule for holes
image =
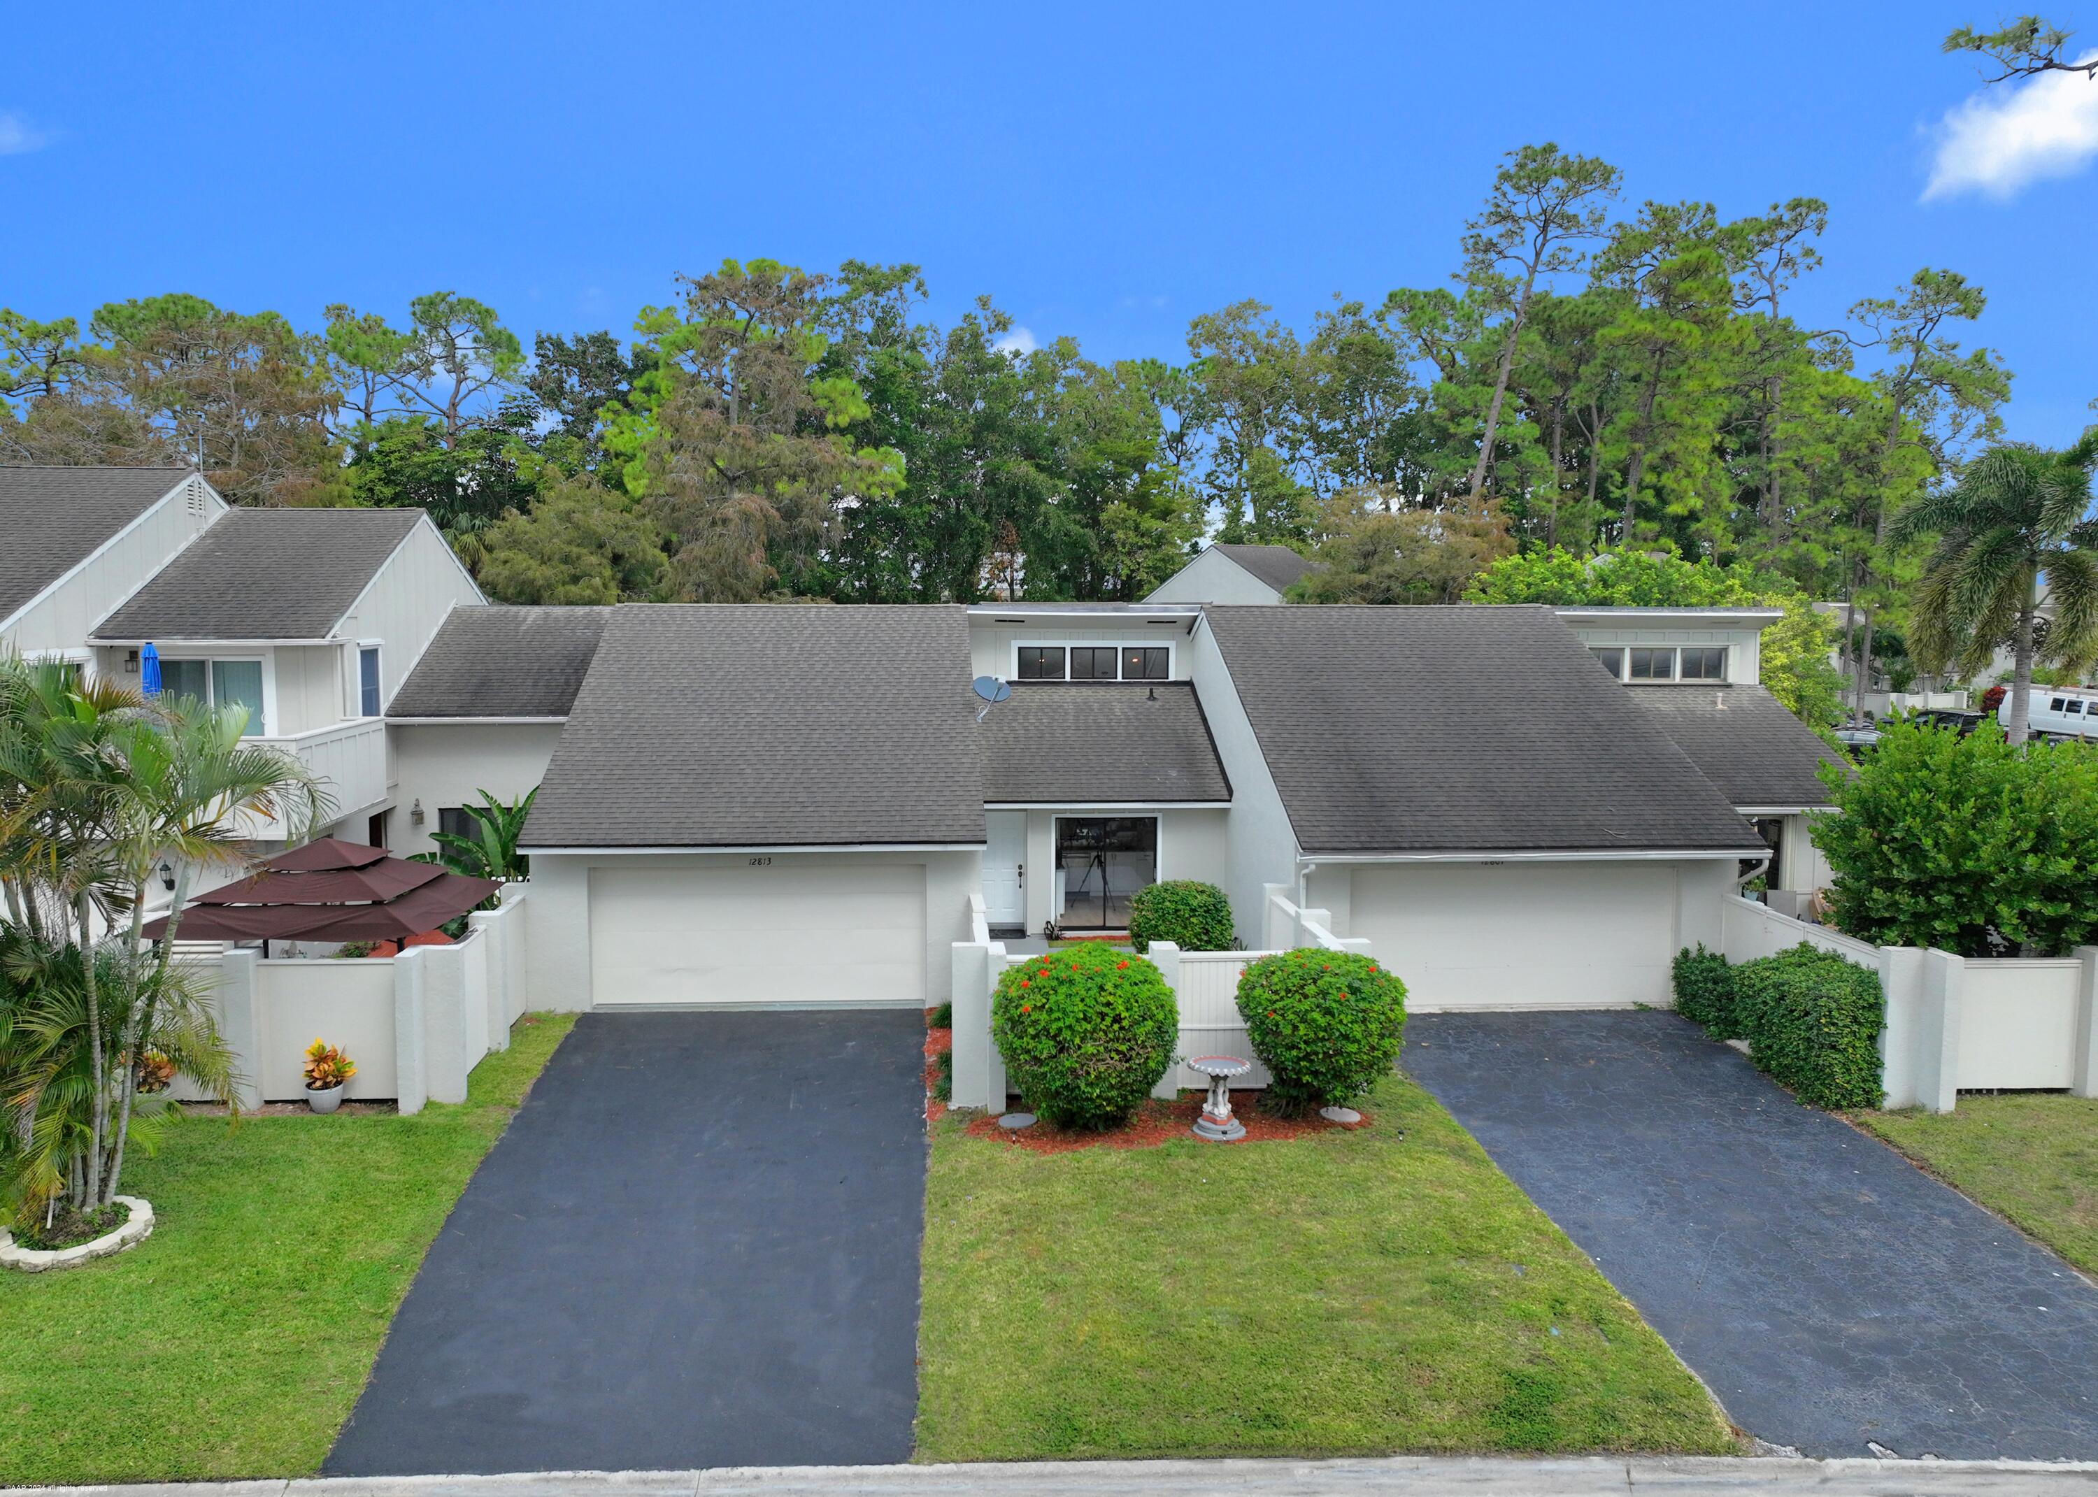
{"label": "round red-flowered bush to the right of the birdbath", "polygon": [[1263,1107],[1339,1107],[1376,1086],[1406,1040],[1406,983],[1368,956],[1299,948],[1246,962],[1238,1013],[1273,1082]]}

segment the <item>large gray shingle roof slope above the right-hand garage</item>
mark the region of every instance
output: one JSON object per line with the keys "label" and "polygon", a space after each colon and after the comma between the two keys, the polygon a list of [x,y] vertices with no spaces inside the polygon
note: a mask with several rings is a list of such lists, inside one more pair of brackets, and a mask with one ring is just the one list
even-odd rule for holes
{"label": "large gray shingle roof slope above the right-hand garage", "polygon": [[1758,849],[1548,608],[1208,621],[1307,853]]}

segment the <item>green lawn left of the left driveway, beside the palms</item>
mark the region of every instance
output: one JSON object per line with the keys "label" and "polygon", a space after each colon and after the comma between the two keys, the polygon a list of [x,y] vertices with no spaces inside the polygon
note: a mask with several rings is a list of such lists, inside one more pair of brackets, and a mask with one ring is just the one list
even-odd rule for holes
{"label": "green lawn left of the left driveway, beside the palms", "polygon": [[573,1015],[527,1015],[415,1118],[191,1118],[126,1164],[138,1248],[0,1273],[0,1484],[319,1468],[394,1306]]}

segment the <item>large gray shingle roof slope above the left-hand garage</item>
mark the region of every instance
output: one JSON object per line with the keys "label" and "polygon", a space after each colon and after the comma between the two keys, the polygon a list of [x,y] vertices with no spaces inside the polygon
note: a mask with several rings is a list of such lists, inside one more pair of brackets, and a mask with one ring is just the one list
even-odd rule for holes
{"label": "large gray shingle roof slope above the left-hand garage", "polygon": [[531,847],[982,843],[961,606],[613,610]]}

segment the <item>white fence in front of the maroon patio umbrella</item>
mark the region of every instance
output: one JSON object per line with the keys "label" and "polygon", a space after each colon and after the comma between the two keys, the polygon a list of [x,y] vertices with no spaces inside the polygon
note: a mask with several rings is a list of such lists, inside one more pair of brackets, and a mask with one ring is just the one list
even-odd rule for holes
{"label": "white fence in front of the maroon patio umbrella", "polygon": [[[233,1048],[241,1107],[304,1101],[300,1073],[315,1040],[357,1063],[344,1097],[464,1103],[466,1078],[510,1046],[524,1011],[529,885],[504,885],[501,908],[468,916],[466,939],[409,946],[380,958],[269,958],[248,948],[195,958],[212,988],[218,1029]],[[195,1097],[178,1084],[176,1097]]]}

